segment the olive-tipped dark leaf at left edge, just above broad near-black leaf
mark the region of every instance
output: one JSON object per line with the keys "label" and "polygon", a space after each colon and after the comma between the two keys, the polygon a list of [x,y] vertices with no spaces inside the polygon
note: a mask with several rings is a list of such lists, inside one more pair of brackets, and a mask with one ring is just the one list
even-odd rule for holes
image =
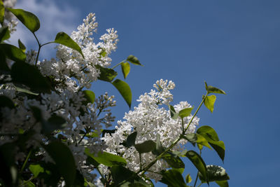
{"label": "olive-tipped dark leaf at left edge, just above broad near-black leaf", "polygon": [[10,60],[25,62],[26,55],[22,52],[20,48],[17,48],[7,43],[0,43],[0,50]]}

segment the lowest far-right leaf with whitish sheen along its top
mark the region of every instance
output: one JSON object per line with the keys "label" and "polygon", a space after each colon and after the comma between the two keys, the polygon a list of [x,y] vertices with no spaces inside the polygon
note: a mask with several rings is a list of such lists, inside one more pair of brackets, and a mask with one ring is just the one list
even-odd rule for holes
{"label": "lowest far-right leaf with whitish sheen along its top", "polygon": [[[207,165],[207,174],[208,174],[209,182],[226,181],[230,179],[228,174],[225,172],[225,169],[218,165]],[[200,181],[202,181],[202,183],[206,182],[202,174],[200,174],[199,176],[200,176]]]}

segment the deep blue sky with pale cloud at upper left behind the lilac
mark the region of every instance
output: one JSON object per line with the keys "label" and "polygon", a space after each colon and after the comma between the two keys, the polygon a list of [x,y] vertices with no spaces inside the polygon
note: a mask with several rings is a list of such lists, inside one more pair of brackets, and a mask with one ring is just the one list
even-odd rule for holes
{"label": "deep blue sky with pale cloud at upper left behind the lilac", "polygon": [[[225,90],[227,95],[218,95],[214,113],[205,107],[198,113],[200,125],[214,127],[226,147],[224,164],[207,150],[202,153],[205,162],[225,167],[230,186],[276,186],[280,1],[18,0],[17,7],[38,15],[38,37],[43,41],[52,41],[60,31],[71,34],[90,12],[96,13],[99,22],[95,39],[107,28],[117,29],[120,42],[113,64],[130,54],[144,64],[132,67],[127,78],[132,106],[160,78],[176,83],[174,104],[187,100],[198,106],[204,81]],[[24,42],[33,48],[35,41],[25,29],[19,29],[16,37],[25,37]],[[41,57],[53,55],[52,48],[46,48]],[[118,105],[113,112],[118,119],[129,110],[110,84],[95,83],[92,90],[116,95]],[[195,178],[186,160],[188,171]]]}

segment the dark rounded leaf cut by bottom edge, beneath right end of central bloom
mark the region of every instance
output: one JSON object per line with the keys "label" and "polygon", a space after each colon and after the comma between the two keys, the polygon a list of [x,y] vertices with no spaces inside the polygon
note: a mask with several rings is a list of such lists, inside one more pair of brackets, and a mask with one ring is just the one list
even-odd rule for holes
{"label": "dark rounded leaf cut by bottom edge, beneath right end of central bloom", "polygon": [[186,186],[182,174],[176,169],[169,169],[162,174],[162,183],[166,183],[168,186]]}

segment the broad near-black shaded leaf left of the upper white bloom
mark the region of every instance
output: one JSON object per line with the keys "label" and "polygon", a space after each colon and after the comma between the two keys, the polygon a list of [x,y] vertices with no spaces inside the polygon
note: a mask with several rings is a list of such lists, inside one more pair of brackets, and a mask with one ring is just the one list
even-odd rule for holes
{"label": "broad near-black shaded leaf left of the upper white bloom", "polygon": [[22,83],[31,88],[34,92],[50,93],[50,85],[37,67],[25,62],[15,62],[11,69],[11,76],[14,83]]}

